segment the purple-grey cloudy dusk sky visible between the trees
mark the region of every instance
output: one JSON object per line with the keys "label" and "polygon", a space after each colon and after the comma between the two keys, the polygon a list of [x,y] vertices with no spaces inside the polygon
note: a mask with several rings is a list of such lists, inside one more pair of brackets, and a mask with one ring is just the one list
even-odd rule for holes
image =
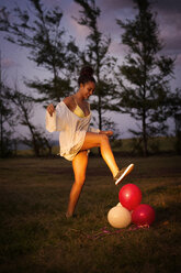
{"label": "purple-grey cloudy dusk sky visible between the trees", "polygon": [[[80,7],[72,0],[42,0],[42,2],[50,8],[59,6],[64,12],[63,24],[67,30],[67,35],[72,35],[79,46],[83,48],[84,37],[88,30],[80,26],[72,19],[79,17]],[[104,34],[111,34],[112,44],[110,53],[118,57],[122,63],[126,52],[126,47],[121,43],[121,28],[116,24],[115,19],[134,19],[135,10],[132,0],[97,0],[97,6],[101,9],[101,18],[99,28]],[[29,0],[0,0],[0,8],[3,6],[8,9],[13,8],[14,3],[26,9],[30,6]],[[152,11],[157,12],[157,22],[159,24],[160,39],[165,43],[161,54],[169,55],[176,58],[174,79],[171,81],[171,87],[181,87],[181,1],[180,0],[157,0],[154,1]],[[27,59],[27,52],[14,44],[8,43],[4,39],[4,33],[0,33],[0,50],[2,54],[2,67],[5,72],[7,81],[13,83],[19,80],[21,88],[25,88],[23,77],[33,78],[34,76],[45,77],[47,72],[37,68],[36,64]],[[38,111],[37,111],[38,112]],[[36,112],[35,112],[36,116]],[[132,124],[132,119],[128,116],[117,114],[113,119],[118,122],[122,136],[127,136],[127,128]],[[37,116],[35,117],[37,119]],[[44,123],[44,111],[38,114],[38,123]]]}

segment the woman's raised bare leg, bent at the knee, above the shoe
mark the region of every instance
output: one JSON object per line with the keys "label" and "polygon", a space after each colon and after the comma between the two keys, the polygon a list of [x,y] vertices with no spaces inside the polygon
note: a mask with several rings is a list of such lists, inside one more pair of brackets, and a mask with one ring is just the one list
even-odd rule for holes
{"label": "woman's raised bare leg, bent at the knee, above the shoe", "polygon": [[110,167],[113,176],[115,176],[118,172],[117,164],[115,162],[113,152],[110,146],[110,141],[108,135],[105,134],[99,134],[99,133],[92,133],[87,132],[84,138],[84,143],[81,148],[81,150],[88,150],[93,146],[100,146],[101,149],[101,155],[103,160],[105,161],[106,165]]}

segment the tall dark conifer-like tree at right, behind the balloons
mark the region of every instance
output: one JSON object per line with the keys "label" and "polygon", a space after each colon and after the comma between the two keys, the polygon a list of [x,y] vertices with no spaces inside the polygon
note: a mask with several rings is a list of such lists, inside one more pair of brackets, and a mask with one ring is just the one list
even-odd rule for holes
{"label": "tall dark conifer-like tree at right, behind the balloons", "polygon": [[[134,0],[138,11],[134,20],[116,20],[124,30],[122,43],[128,53],[116,75],[122,90],[118,109],[129,113],[140,129],[129,130],[143,143],[144,155],[148,155],[148,139],[167,130],[165,111],[174,61],[159,56],[163,45],[158,37],[156,17],[148,0]],[[140,145],[139,145],[140,146]]]}

